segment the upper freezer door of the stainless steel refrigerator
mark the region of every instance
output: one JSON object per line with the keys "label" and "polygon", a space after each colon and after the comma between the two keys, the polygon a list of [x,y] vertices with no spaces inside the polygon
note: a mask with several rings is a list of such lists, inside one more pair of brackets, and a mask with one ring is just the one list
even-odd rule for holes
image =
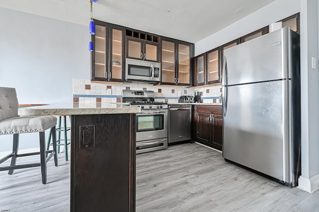
{"label": "upper freezer door of the stainless steel refrigerator", "polygon": [[289,27],[224,50],[223,85],[290,79]]}

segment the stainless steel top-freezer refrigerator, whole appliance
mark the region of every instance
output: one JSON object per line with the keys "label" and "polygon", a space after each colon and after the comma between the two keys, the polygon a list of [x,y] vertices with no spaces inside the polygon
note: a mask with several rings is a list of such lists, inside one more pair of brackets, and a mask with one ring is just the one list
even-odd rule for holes
{"label": "stainless steel top-freezer refrigerator, whole appliance", "polygon": [[284,27],[223,52],[223,157],[290,187],[301,172],[299,40]]}

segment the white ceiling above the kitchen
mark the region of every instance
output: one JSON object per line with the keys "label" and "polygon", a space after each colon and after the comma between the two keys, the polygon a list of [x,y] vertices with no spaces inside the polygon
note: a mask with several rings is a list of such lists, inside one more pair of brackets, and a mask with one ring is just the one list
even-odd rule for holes
{"label": "white ceiling above the kitchen", "polygon": [[[99,0],[93,18],[195,43],[272,1]],[[89,0],[1,0],[0,7],[83,25],[90,19]]]}

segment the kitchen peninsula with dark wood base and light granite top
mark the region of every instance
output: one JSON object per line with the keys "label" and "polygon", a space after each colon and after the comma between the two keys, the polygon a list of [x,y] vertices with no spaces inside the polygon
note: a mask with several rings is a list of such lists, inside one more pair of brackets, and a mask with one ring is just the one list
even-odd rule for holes
{"label": "kitchen peninsula with dark wood base and light granite top", "polygon": [[71,115],[71,212],[135,211],[137,112],[115,103],[19,108],[19,115]]}

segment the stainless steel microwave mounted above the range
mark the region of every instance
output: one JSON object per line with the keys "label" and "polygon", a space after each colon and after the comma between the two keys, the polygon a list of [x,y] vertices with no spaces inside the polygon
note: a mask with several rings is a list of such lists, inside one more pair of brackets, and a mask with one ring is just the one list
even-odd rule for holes
{"label": "stainless steel microwave mounted above the range", "polygon": [[160,82],[160,63],[127,58],[125,81]]}

